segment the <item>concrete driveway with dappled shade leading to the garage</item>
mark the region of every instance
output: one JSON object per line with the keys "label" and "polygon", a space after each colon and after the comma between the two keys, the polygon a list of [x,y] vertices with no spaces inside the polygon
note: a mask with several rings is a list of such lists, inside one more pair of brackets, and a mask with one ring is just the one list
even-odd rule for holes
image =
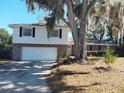
{"label": "concrete driveway with dappled shade leading to the garage", "polygon": [[12,62],[0,66],[0,93],[50,93],[44,74],[53,63]]}

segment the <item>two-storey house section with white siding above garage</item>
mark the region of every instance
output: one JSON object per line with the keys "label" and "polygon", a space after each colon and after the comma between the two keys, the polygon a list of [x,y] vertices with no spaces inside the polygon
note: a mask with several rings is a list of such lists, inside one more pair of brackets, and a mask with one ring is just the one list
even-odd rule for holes
{"label": "two-storey house section with white siding above garage", "polygon": [[70,53],[66,25],[56,25],[49,34],[41,23],[9,26],[13,29],[13,60],[57,60]]}

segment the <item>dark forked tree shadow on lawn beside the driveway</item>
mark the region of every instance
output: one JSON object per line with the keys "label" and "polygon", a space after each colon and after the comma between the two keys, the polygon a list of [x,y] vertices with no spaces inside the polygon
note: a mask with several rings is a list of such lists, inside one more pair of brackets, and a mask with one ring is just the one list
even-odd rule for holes
{"label": "dark forked tree shadow on lawn beside the driveway", "polygon": [[74,85],[74,86],[68,86],[66,83],[62,82],[62,79],[66,75],[75,75],[75,74],[90,74],[89,72],[72,72],[72,71],[64,71],[60,72],[58,74],[52,75],[48,78],[48,84],[51,87],[52,93],[61,93],[61,92],[67,92],[67,93],[82,93],[87,90],[88,87],[101,85],[102,83],[93,83],[89,85]]}

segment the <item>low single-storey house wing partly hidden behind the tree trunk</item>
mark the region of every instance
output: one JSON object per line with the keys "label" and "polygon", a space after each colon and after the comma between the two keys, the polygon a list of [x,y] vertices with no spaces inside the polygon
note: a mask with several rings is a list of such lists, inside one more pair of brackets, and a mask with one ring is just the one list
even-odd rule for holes
{"label": "low single-storey house wing partly hidden behind the tree trunk", "polygon": [[[75,46],[74,42],[69,42],[69,47],[71,49],[71,55],[74,55],[75,53]],[[106,49],[111,48],[113,50],[116,50],[119,46],[118,43],[115,42],[107,42],[107,41],[87,41],[87,55],[94,55],[94,56],[101,56]]]}

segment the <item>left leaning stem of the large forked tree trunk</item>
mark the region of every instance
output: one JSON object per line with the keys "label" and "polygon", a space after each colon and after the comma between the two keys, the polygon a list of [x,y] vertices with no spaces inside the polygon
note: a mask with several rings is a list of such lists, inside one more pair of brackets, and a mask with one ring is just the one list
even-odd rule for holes
{"label": "left leaning stem of the large forked tree trunk", "polygon": [[66,0],[66,4],[67,4],[67,10],[68,10],[68,20],[70,23],[70,28],[72,30],[72,36],[74,39],[74,44],[75,44],[75,59],[79,60],[80,59],[80,49],[81,49],[81,45],[79,42],[79,37],[78,37],[78,29],[76,26],[76,22],[75,22],[75,15],[73,12],[73,8],[72,8],[72,1],[71,0]]}

